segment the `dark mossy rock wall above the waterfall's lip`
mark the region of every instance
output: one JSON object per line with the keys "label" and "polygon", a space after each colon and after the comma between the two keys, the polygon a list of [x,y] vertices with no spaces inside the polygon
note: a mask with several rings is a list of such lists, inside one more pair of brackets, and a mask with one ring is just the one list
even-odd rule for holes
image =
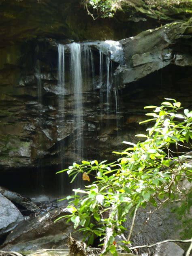
{"label": "dark mossy rock wall above the waterfall's lip", "polygon": [[[115,19],[87,15],[81,0],[1,0],[0,45],[18,45],[38,37],[120,40],[174,20],[191,17],[191,3],[151,9],[144,1],[128,1]],[[94,10],[91,10],[94,12]]]}

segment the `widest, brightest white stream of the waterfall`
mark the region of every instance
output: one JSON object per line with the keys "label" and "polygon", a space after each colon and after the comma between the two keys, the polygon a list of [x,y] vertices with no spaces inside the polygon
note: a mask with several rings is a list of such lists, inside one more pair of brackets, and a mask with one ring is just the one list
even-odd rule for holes
{"label": "widest, brightest white stream of the waterfall", "polygon": [[[70,81],[74,90],[74,153],[82,159],[83,156],[83,102],[82,102],[82,70],[81,70],[81,45],[72,43],[70,45]],[[76,159],[77,160],[77,159]]]}

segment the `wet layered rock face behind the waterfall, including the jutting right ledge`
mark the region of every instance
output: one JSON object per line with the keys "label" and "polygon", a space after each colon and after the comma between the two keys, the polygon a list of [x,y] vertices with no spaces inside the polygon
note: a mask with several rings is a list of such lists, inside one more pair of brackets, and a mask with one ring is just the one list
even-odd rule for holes
{"label": "wet layered rock face behind the waterfall, including the jutting right ledge", "polygon": [[[178,31],[181,32],[179,36],[175,35]],[[158,40],[155,41],[155,38]],[[164,38],[163,42],[162,38]],[[84,81],[83,158],[100,160],[115,158],[111,155],[111,151],[123,149],[122,141],[135,141],[134,134],[145,130],[145,127],[139,126],[138,122],[145,119],[143,107],[153,105],[154,100],[156,104],[160,104],[164,97],[176,98],[184,107],[190,108],[189,39],[188,23],[178,23],[170,25],[167,29],[164,27],[143,32],[134,38],[122,41],[125,53],[124,65],[121,64],[123,69],[118,73],[119,64],[115,62],[113,64],[117,69],[116,71],[114,69],[114,90],[110,92],[109,105],[106,69],[102,100],[100,89],[87,86],[87,82]],[[95,80],[98,81],[99,51],[96,47],[92,50]],[[11,49],[7,47],[1,51],[4,56],[0,69],[1,168],[51,166],[60,164],[62,159],[67,166],[74,160],[80,160],[77,150],[74,149],[78,127],[74,122],[72,111],[75,99],[74,94],[70,92],[68,53],[66,53],[65,117],[61,119],[58,49],[54,42],[49,39],[33,40],[20,47],[15,46]],[[158,58],[157,54],[163,54],[164,57]],[[178,57],[179,54],[185,56],[185,59]],[[174,59],[174,56],[180,60]],[[151,68],[145,69],[147,66]],[[118,106],[115,97],[117,89]],[[61,154],[61,150],[64,154]]]}

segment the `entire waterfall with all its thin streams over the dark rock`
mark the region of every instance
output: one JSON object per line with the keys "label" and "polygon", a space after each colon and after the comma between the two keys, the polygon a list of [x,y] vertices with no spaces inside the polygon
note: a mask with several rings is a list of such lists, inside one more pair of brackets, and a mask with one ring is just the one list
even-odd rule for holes
{"label": "entire waterfall with all its thin streams over the dark rock", "polygon": [[[69,55],[68,55],[69,53]],[[71,162],[80,162],[85,156],[83,152],[83,91],[91,91],[100,88],[100,115],[102,120],[103,112],[107,113],[107,123],[109,126],[109,113],[113,112],[111,106],[113,101],[111,99],[112,73],[113,62],[109,55],[105,55],[99,49],[99,66],[95,70],[96,54],[92,51],[90,44],[71,43],[66,45],[66,58],[69,56],[69,79],[66,76],[65,81],[65,46],[58,45],[58,107],[59,107],[59,141],[60,141],[60,162],[61,169],[67,168],[64,164],[65,148],[67,145],[72,147],[73,154],[70,156]],[[110,55],[111,56],[111,55]],[[96,58],[98,58],[96,56]],[[66,66],[66,70],[68,67]],[[66,90],[66,88],[67,90]],[[68,116],[65,117],[65,94],[70,94],[73,97],[70,109],[70,122],[73,123],[73,136],[68,137],[68,143],[64,145],[65,141],[65,123],[68,122]],[[106,95],[106,101],[103,102],[103,94]],[[96,94],[95,94],[96,95]],[[115,111],[116,111],[116,126],[118,128],[118,113],[119,100],[118,91],[114,91],[115,97]],[[106,109],[103,109],[103,105]],[[117,134],[118,135],[118,134]],[[61,184],[64,183],[64,176],[60,176]],[[75,186],[82,185],[82,179],[76,180]],[[64,194],[62,185],[61,190]]]}

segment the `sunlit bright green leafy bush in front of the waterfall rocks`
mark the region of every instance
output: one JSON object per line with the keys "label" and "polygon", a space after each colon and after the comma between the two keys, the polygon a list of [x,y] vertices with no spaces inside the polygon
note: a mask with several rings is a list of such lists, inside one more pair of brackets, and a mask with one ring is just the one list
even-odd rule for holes
{"label": "sunlit bright green leafy bush in front of the waterfall rocks", "polygon": [[[145,107],[154,110],[146,114],[150,119],[141,124],[153,125],[146,134],[136,135],[142,138],[137,144],[124,141],[127,148],[113,152],[119,156],[117,161],[82,161],[58,172],[66,171],[73,177],[71,182],[77,175],[88,181],[94,177],[84,190],[74,189],[75,195],[64,198],[70,214],[61,217],[73,222],[74,228],[80,226],[84,239],[89,237],[88,245],[98,236],[104,238],[105,252],[117,255],[118,247],[129,252],[137,209],[149,204],[158,208],[186,193],[181,181],[191,181],[192,177],[192,111],[183,111],[181,103],[174,99],[165,100],[160,107]],[[130,218],[128,237],[117,243],[115,237],[125,232],[123,222]]]}

